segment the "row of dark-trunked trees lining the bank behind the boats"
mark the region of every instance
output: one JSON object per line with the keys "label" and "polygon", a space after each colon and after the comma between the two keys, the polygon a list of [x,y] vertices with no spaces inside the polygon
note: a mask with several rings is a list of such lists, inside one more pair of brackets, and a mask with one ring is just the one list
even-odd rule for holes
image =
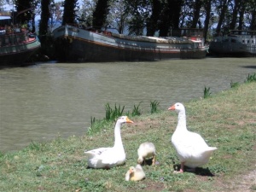
{"label": "row of dark-trunked trees lining the bank behind the boats", "polygon": [[[49,31],[56,20],[98,28],[111,26],[120,33],[148,36],[166,36],[171,29],[183,27],[203,28],[205,38],[211,31],[224,34],[233,29],[256,30],[256,0],[82,0],[79,7],[78,0],[14,2],[18,23],[32,26],[37,14],[33,8],[41,6],[43,12],[43,4],[49,4],[49,15],[41,15],[44,27],[40,27],[40,34]],[[10,0],[0,0],[0,9],[4,3]]]}

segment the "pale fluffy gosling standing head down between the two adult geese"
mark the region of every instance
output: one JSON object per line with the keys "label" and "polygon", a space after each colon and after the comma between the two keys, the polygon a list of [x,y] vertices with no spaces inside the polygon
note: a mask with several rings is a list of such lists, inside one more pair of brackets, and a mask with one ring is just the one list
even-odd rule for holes
{"label": "pale fluffy gosling standing head down between the two adult geese", "polygon": [[140,147],[137,149],[137,155],[138,155],[138,159],[137,159],[138,164],[143,164],[146,158],[152,157],[153,158],[152,165],[154,166],[155,160],[156,160],[154,143],[145,142],[140,144]]}

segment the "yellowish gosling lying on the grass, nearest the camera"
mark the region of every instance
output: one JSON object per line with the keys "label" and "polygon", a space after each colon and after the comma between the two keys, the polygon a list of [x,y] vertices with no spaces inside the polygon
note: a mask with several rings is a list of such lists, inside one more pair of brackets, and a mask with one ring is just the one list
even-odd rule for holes
{"label": "yellowish gosling lying on the grass, nearest the camera", "polygon": [[141,181],[146,175],[143,172],[143,167],[137,164],[136,167],[131,166],[129,171],[125,174],[125,181]]}

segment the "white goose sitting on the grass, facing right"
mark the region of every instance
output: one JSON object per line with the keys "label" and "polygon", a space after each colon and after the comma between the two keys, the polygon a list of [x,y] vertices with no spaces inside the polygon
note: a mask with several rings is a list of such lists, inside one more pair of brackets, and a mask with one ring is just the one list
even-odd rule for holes
{"label": "white goose sitting on the grass, facing right", "polygon": [[127,116],[119,117],[114,127],[114,145],[113,148],[96,148],[85,151],[88,157],[88,166],[91,168],[112,168],[125,163],[125,149],[121,138],[121,125],[133,123]]}

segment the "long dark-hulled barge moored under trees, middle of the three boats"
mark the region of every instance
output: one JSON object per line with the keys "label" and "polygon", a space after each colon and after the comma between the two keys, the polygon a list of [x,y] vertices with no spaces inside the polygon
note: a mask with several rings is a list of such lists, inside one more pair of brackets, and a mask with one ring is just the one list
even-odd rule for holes
{"label": "long dark-hulled barge moored under trees, middle of the three boats", "polygon": [[208,49],[198,34],[186,38],[131,37],[66,25],[56,28],[53,38],[58,61],[199,59],[206,57]]}

